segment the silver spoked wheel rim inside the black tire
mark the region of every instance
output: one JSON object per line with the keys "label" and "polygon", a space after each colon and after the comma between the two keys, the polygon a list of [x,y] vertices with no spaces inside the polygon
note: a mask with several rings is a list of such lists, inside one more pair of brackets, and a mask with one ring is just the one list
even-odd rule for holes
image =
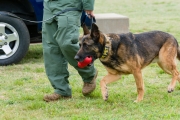
{"label": "silver spoked wheel rim inside the black tire", "polygon": [[0,22],[0,59],[14,55],[19,47],[19,35],[10,24]]}

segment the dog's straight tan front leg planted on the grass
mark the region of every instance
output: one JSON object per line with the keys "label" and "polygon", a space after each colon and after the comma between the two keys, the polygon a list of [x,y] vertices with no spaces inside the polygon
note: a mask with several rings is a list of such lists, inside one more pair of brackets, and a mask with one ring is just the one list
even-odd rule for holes
{"label": "dog's straight tan front leg planted on the grass", "polygon": [[135,70],[133,72],[135,81],[136,81],[136,87],[137,87],[137,99],[134,102],[140,102],[141,100],[143,100],[144,97],[144,81],[142,79],[142,73],[141,70]]}

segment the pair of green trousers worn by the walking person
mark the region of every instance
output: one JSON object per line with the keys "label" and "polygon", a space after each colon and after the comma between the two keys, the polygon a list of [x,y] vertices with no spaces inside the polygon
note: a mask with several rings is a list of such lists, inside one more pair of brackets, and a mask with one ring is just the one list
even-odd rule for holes
{"label": "pair of green trousers worn by the walking person", "polygon": [[[44,2],[44,20],[58,12],[56,2]],[[91,82],[95,75],[94,66],[78,68],[74,59],[79,49],[81,12],[71,11],[43,23],[42,43],[45,70],[54,92],[71,96],[68,63],[72,65],[84,82]]]}

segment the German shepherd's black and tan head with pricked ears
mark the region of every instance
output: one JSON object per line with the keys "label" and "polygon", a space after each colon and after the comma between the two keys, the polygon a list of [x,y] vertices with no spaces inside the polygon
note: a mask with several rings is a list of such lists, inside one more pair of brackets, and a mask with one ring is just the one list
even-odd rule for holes
{"label": "German shepherd's black and tan head with pricked ears", "polygon": [[98,26],[93,23],[91,32],[83,25],[84,36],[80,40],[80,49],[74,59],[78,62],[83,61],[86,57],[92,57],[92,63],[101,57],[105,46],[104,35],[99,31]]}

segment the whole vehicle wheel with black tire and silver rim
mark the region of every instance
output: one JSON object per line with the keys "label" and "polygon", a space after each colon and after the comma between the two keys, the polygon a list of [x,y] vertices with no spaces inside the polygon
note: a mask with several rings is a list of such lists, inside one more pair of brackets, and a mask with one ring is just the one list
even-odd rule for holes
{"label": "whole vehicle wheel with black tire and silver rim", "polygon": [[0,14],[0,66],[20,62],[29,45],[30,35],[25,23],[15,17]]}

